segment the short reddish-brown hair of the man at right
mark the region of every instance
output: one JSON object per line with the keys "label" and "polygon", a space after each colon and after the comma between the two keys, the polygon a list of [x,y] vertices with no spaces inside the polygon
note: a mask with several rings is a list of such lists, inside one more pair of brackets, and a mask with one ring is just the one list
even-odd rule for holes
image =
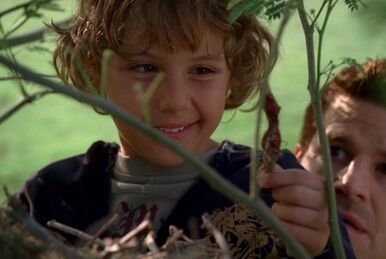
{"label": "short reddish-brown hair of the man at right", "polygon": [[[322,90],[324,112],[339,94],[386,107],[386,59],[369,60],[362,66],[351,65],[340,71]],[[300,135],[300,147],[307,150],[316,132],[315,114],[308,104]]]}

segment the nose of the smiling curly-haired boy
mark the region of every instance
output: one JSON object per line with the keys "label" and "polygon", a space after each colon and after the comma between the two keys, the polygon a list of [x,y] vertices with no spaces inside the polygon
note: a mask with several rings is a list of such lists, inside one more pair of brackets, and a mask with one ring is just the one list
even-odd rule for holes
{"label": "nose of the smiling curly-haired boy", "polygon": [[162,112],[180,112],[190,108],[191,93],[183,77],[166,76],[155,92],[154,100]]}

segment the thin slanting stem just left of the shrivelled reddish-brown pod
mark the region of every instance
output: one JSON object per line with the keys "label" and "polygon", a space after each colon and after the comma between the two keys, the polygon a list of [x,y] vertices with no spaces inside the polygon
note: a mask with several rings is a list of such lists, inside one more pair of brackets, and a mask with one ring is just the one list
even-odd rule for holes
{"label": "thin slanting stem just left of the shrivelled reddish-brown pod", "polygon": [[258,166],[258,161],[257,161],[257,159],[258,159],[257,150],[259,147],[260,125],[261,125],[261,121],[262,121],[262,109],[261,108],[264,107],[265,97],[266,97],[267,93],[270,91],[268,79],[269,79],[269,76],[270,76],[272,69],[273,69],[273,67],[276,63],[276,60],[277,60],[277,55],[279,52],[279,43],[280,43],[282,35],[284,33],[284,28],[288,24],[288,19],[289,19],[289,15],[290,15],[290,13],[289,13],[290,4],[291,4],[291,1],[289,1],[285,6],[285,9],[284,9],[285,12],[283,15],[283,19],[280,22],[279,29],[278,29],[276,37],[275,37],[275,41],[273,43],[271,53],[268,56],[268,62],[264,68],[264,73],[263,73],[263,80],[264,80],[263,81],[263,87],[260,91],[259,102],[258,102],[258,107],[257,107],[257,112],[256,112],[256,128],[255,128],[256,130],[255,130],[255,136],[254,136],[255,137],[254,138],[254,146],[251,149],[252,165],[251,165],[251,169],[250,169],[251,170],[251,172],[250,172],[251,181],[249,184],[249,190],[250,190],[249,195],[253,199],[256,199],[256,197],[258,196],[258,193],[259,193],[258,181],[257,181],[257,170],[260,166]]}

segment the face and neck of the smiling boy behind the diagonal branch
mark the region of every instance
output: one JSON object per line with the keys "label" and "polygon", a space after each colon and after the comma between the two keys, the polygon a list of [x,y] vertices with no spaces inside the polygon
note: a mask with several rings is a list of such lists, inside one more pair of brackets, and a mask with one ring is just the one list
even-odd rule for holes
{"label": "face and neck of the smiling boy behind the diagonal branch", "polygon": [[[192,52],[181,45],[174,51],[150,46],[145,52],[109,62],[107,96],[129,114],[144,120],[144,111],[133,86],[144,91],[158,72],[164,79],[148,104],[155,129],[199,154],[216,146],[210,136],[219,124],[230,85],[230,70],[224,57],[223,37],[204,33]],[[114,119],[120,133],[121,152],[170,166],[181,163],[173,152],[136,129]]]}

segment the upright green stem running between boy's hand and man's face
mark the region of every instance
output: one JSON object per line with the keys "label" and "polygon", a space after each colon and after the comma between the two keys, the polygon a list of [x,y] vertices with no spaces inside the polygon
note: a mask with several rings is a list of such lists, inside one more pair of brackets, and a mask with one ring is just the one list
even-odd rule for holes
{"label": "upright green stem running between boy's hand and man's face", "polygon": [[346,258],[343,249],[343,243],[338,225],[338,213],[336,208],[336,198],[334,181],[332,174],[332,164],[330,159],[330,149],[326,133],[324,131],[322,105],[319,96],[319,90],[316,85],[316,70],[315,70],[315,51],[313,41],[313,27],[310,27],[307,21],[307,15],[304,8],[303,0],[298,0],[298,13],[304,30],[307,48],[307,63],[308,63],[308,90],[311,95],[312,107],[314,109],[316,125],[319,133],[319,141],[322,150],[322,158],[324,165],[324,175],[326,180],[326,192],[329,213],[329,226],[331,231],[332,244],[338,259]]}

